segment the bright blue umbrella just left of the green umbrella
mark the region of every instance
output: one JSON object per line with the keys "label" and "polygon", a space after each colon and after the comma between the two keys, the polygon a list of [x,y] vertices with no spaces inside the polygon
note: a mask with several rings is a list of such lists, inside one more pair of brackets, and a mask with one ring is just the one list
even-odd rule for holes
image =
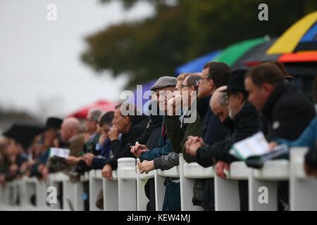
{"label": "bright blue umbrella just left of the green umbrella", "polygon": [[182,72],[201,72],[204,65],[213,60],[213,58],[218,56],[219,53],[220,51],[213,51],[199,58],[195,58],[184,65],[181,65],[180,67],[176,68],[176,75],[180,75]]}

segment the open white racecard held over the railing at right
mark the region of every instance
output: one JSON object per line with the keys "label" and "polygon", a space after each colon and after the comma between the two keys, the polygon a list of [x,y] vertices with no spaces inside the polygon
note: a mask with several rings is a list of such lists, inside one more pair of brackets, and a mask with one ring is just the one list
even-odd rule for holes
{"label": "open white racecard held over the railing at right", "polygon": [[230,154],[235,158],[245,161],[249,167],[260,168],[267,160],[278,158],[288,153],[286,145],[275,146],[270,149],[268,141],[260,131],[247,139],[235,143]]}

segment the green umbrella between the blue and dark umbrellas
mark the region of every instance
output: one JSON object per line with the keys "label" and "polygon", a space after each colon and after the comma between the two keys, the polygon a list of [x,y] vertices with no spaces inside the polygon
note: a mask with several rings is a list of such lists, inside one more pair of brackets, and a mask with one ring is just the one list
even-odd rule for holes
{"label": "green umbrella between the blue and dark umbrellas", "polygon": [[213,61],[223,62],[231,67],[240,57],[244,55],[244,53],[247,53],[247,51],[265,41],[268,41],[268,38],[260,37],[256,39],[239,41],[223,49],[223,51],[221,51],[221,53],[216,58],[214,58]]}

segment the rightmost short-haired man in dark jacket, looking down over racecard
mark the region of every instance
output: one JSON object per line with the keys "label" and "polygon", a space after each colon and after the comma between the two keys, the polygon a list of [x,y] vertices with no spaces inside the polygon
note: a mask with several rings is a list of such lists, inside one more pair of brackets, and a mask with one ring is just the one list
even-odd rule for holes
{"label": "rightmost short-haired man in dark jacket, looking down over racecard", "polygon": [[[275,65],[258,65],[247,73],[249,101],[268,121],[266,138],[297,139],[316,112],[304,94],[287,82]],[[288,182],[279,184],[279,210],[288,207]]]}

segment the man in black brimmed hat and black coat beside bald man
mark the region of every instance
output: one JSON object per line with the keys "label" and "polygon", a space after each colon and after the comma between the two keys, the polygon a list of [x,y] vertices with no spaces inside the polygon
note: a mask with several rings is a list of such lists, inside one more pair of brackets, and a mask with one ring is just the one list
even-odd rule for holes
{"label": "man in black brimmed hat and black coat beside bald man", "polygon": [[[237,141],[246,139],[259,131],[259,113],[247,101],[247,91],[244,89],[244,75],[247,70],[235,70],[231,73],[227,89],[228,109],[231,127],[224,141],[204,145],[200,141],[187,145],[187,152],[196,157],[209,158],[216,161],[216,174],[225,179],[224,169],[237,159],[229,154],[231,146]],[[247,182],[239,181],[240,210],[248,210]]]}

